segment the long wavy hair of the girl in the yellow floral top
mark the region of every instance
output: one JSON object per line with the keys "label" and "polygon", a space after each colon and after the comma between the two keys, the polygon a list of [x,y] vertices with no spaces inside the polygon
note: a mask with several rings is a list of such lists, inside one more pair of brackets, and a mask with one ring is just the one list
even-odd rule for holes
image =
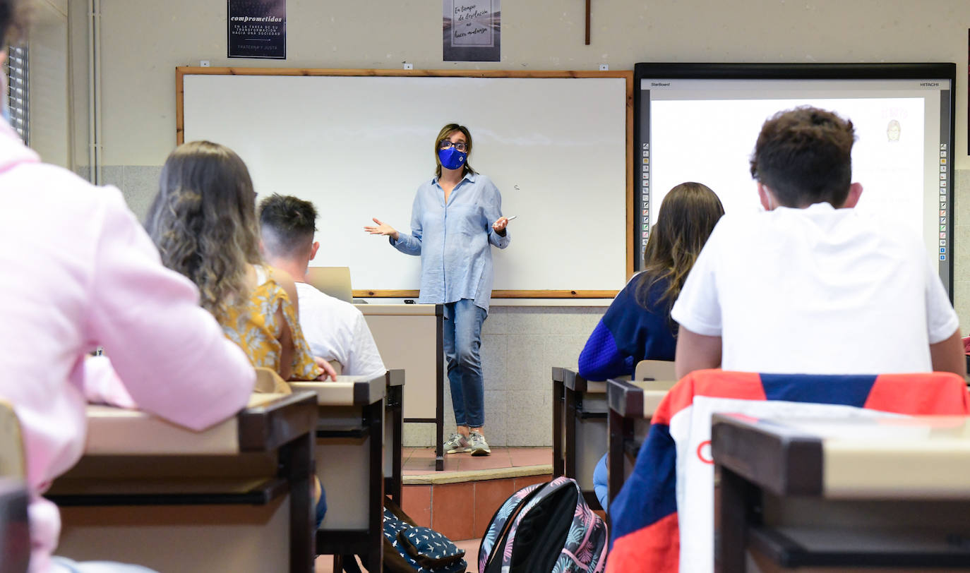
{"label": "long wavy hair of the girl in the yellow floral top", "polygon": [[249,171],[232,149],[179,145],[162,168],[146,230],[162,263],[199,287],[203,308],[220,322],[248,299],[247,265],[259,265],[259,227]]}

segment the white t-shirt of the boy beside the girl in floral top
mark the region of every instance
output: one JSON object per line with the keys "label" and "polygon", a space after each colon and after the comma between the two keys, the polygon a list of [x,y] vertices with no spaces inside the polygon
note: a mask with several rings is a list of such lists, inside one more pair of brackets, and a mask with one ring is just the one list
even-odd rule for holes
{"label": "white t-shirt of the boy beside the girl in floral top", "polygon": [[360,310],[305,282],[296,285],[300,299],[300,328],[313,356],[336,360],[347,376],[370,378],[387,371]]}

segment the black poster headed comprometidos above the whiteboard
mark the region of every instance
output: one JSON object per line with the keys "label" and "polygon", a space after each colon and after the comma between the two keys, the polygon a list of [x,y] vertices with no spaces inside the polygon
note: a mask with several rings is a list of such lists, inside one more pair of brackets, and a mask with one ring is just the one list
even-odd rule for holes
{"label": "black poster headed comprometidos above the whiteboard", "polygon": [[229,57],[286,59],[286,0],[228,0]]}

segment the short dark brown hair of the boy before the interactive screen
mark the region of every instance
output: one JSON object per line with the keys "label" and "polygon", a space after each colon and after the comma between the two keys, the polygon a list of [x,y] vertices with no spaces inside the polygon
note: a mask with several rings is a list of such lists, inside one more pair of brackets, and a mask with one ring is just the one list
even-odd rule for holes
{"label": "short dark brown hair of the boy before the interactive screen", "polygon": [[785,207],[842,207],[852,184],[852,121],[810,106],[779,111],[761,126],[751,175]]}

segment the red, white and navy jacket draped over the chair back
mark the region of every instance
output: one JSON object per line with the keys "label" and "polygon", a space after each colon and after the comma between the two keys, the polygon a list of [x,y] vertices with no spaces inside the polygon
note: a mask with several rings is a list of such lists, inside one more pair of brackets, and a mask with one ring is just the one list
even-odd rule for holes
{"label": "red, white and navy jacket draped over the chair back", "polygon": [[713,414],[838,418],[877,416],[877,410],[966,416],[970,400],[962,378],[940,372],[826,376],[712,369],[685,376],[657,408],[633,473],[610,505],[607,573],[713,570]]}

